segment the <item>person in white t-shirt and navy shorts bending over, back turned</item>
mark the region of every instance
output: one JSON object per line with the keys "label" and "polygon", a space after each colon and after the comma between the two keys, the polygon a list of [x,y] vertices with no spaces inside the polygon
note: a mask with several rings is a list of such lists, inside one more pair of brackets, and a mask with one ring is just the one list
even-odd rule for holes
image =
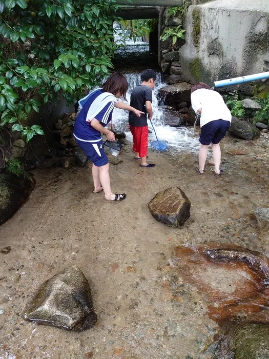
{"label": "person in white t-shirt and navy shorts bending over, back turned", "polygon": [[215,165],[215,173],[220,175],[221,151],[219,143],[229,130],[232,122],[232,114],[225,105],[221,95],[205,83],[198,82],[191,90],[192,108],[200,117],[200,151],[199,168],[200,174],[204,173],[204,165],[208,155],[208,148],[211,145]]}

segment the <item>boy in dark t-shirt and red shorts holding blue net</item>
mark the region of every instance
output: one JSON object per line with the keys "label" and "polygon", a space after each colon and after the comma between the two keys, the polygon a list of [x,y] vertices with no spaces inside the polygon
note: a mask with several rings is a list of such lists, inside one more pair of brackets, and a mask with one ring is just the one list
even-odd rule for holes
{"label": "boy in dark t-shirt and red shorts holding blue net", "polygon": [[152,168],[155,165],[147,163],[148,155],[148,118],[152,119],[152,89],[156,83],[156,73],[149,69],[141,73],[142,84],[137,86],[131,94],[131,106],[144,112],[136,117],[129,112],[130,131],[134,137],[135,159],[141,159],[140,167]]}

